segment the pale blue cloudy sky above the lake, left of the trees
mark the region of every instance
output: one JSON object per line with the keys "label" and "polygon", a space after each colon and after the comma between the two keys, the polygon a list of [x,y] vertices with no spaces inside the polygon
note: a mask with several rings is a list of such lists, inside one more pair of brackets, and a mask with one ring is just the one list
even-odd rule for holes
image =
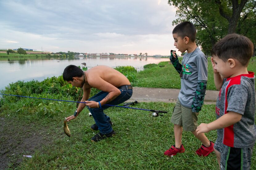
{"label": "pale blue cloudy sky above the lake, left of the trees", "polygon": [[0,49],[169,55],[168,0],[1,0]]}

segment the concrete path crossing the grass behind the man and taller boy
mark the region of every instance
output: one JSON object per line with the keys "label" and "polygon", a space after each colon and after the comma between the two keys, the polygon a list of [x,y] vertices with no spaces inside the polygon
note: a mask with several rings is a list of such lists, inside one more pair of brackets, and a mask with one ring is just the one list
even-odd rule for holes
{"label": "concrete path crossing the grass behind the man and taller boy", "polygon": [[[127,102],[137,100],[138,102],[157,102],[166,103],[176,102],[180,89],[160,89],[133,87],[132,97]],[[215,104],[219,91],[206,90],[204,104]]]}

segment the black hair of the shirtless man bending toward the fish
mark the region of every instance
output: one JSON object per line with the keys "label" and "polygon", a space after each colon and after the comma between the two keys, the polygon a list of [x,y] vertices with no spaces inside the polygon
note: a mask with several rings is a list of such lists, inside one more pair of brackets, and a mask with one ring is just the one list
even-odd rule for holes
{"label": "black hair of the shirtless man bending toward the fish", "polygon": [[83,70],[76,65],[68,65],[63,72],[64,81],[73,81],[73,77],[82,77]]}

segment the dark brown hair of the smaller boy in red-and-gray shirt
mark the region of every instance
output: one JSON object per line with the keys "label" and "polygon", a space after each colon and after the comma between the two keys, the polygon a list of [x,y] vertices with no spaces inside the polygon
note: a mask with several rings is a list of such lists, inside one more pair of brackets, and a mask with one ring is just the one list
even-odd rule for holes
{"label": "dark brown hair of the smaller boy in red-and-gray shirt", "polygon": [[247,66],[253,55],[253,49],[253,43],[249,38],[238,34],[228,34],[213,46],[212,56],[217,56],[224,62],[233,58],[243,66]]}

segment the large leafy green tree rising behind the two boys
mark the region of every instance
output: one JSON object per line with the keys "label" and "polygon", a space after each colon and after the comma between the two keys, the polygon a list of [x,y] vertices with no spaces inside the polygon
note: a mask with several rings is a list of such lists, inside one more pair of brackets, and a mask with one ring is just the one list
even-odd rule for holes
{"label": "large leafy green tree rising behind the two boys", "polygon": [[[197,29],[196,43],[206,54],[210,54],[212,46],[226,34],[245,33],[239,32],[237,25],[243,26],[245,22],[255,25],[255,20],[248,19],[248,15],[255,19],[255,0],[168,0],[168,3],[177,9],[178,19],[172,24],[183,21],[194,23]],[[243,35],[253,41],[248,34]]]}

